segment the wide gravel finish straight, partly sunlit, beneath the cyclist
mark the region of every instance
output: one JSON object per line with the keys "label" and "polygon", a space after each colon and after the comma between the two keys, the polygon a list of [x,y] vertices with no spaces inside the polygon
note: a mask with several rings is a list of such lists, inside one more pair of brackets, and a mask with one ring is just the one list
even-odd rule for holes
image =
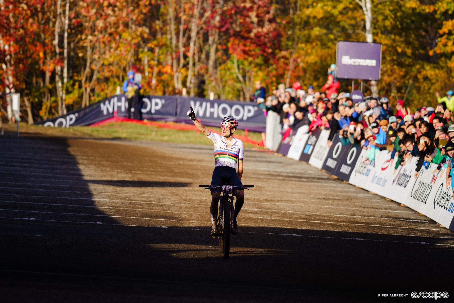
{"label": "wide gravel finish straight, partly sunlit, beneath the cyclist", "polygon": [[[454,233],[286,157],[246,150],[226,261],[213,148],[0,137],[2,302],[388,302],[453,290]],[[450,293],[454,296],[454,293]],[[405,297],[396,298],[404,301]]]}

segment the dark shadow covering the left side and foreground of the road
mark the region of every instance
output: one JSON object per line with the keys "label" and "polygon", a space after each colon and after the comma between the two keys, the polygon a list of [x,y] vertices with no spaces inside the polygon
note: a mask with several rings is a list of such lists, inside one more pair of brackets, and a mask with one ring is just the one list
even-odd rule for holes
{"label": "dark shadow covering the left side and foreground of the road", "polygon": [[0,143],[4,302],[384,302],[379,293],[452,290],[443,239],[240,222],[225,261],[207,226],[121,225],[89,189],[187,183],[84,180],[65,139]]}

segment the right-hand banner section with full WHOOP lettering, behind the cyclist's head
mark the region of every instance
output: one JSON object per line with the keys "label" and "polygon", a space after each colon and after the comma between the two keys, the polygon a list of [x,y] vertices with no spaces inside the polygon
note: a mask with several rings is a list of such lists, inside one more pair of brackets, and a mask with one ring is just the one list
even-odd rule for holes
{"label": "right-hand banner section with full WHOOP lettering, behind the cyclist's head", "polygon": [[192,123],[186,114],[191,106],[197,119],[204,125],[220,127],[223,117],[233,116],[238,120],[239,129],[265,131],[266,118],[256,103],[178,97],[179,122]]}

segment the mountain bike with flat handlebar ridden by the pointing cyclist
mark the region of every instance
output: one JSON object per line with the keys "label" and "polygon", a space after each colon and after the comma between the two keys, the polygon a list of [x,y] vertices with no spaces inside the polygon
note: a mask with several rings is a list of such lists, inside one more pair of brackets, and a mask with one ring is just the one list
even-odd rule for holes
{"label": "mountain bike with flat handlebar ridden by the pointing cyclist", "polygon": [[217,239],[219,241],[219,250],[228,259],[230,253],[230,229],[233,226],[233,195],[237,189],[247,189],[254,185],[231,186],[231,185],[205,185],[200,184],[199,187],[205,187],[209,190],[221,190],[219,197],[219,214],[217,215]]}

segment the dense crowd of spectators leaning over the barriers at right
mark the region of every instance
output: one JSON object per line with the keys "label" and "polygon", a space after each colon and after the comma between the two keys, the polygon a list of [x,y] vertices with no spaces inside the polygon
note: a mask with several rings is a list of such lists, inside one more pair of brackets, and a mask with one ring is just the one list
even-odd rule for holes
{"label": "dense crowd of spectators leaning over the barriers at right", "polygon": [[398,100],[395,109],[391,108],[387,97],[365,97],[355,102],[348,92],[338,94],[339,82],[329,74],[326,84],[317,91],[312,85],[303,89],[299,82],[286,88],[284,84],[273,87],[265,99],[264,89],[256,83],[254,101],[259,104],[265,115],[270,111],[280,116],[282,141],[287,143],[296,130],[306,126],[307,132],[315,129],[328,129],[328,147],[335,136],[341,143],[360,144],[367,149],[365,162],[373,161],[379,150],[390,151],[390,159],[396,162],[395,169],[417,157],[416,173],[428,168],[429,163],[438,164],[433,173],[441,168],[449,168],[447,184],[452,180],[451,171],[454,154],[454,97],[449,90],[447,96],[440,98],[432,107],[422,106],[411,112],[403,100]]}

